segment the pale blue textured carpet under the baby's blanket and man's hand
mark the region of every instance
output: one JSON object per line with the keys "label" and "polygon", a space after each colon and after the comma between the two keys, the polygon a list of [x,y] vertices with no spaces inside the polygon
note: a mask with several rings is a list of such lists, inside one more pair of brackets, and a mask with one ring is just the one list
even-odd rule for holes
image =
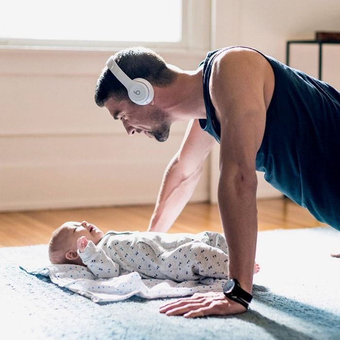
{"label": "pale blue textured carpet under the baby's blanket and man's hand", "polygon": [[1,339],[340,339],[340,232],[260,232],[254,300],[227,317],[167,317],[174,299],[94,304],[19,269],[44,265],[47,245],[0,248]]}

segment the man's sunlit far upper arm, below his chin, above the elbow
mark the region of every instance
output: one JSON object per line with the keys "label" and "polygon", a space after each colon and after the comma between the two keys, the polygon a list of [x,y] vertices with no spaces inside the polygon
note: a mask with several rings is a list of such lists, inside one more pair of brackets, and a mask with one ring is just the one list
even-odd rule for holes
{"label": "man's sunlit far upper arm, below his chin, above the elbow", "polygon": [[199,169],[215,144],[215,139],[200,127],[198,119],[190,120],[178,159],[183,171],[188,175]]}

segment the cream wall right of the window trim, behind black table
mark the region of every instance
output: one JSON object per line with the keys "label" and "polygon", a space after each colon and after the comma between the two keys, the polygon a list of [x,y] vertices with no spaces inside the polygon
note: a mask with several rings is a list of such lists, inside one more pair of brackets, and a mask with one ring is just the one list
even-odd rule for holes
{"label": "cream wall right of the window trim, behind black table", "polygon": [[[213,0],[212,48],[249,46],[286,62],[286,41],[314,39],[315,31],[340,32],[339,0]],[[340,45],[323,47],[323,80],[340,89]],[[290,66],[318,76],[318,47],[292,46]],[[211,201],[217,202],[219,148],[211,155]],[[257,197],[281,194],[258,172]]]}

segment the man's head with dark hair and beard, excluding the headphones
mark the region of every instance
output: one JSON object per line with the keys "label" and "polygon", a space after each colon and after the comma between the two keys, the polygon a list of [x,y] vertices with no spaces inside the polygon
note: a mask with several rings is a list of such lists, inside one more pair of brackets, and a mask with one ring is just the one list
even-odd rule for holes
{"label": "man's head with dark hair and beard, excluding the headphones", "polygon": [[[144,78],[153,87],[170,86],[177,77],[163,58],[149,49],[138,47],[119,51],[114,60],[128,77]],[[98,79],[95,101],[98,106],[105,106],[114,119],[122,120],[129,135],[137,132],[161,142],[167,140],[173,122],[170,114],[155,102],[148,105],[131,102],[126,88],[107,67]]]}

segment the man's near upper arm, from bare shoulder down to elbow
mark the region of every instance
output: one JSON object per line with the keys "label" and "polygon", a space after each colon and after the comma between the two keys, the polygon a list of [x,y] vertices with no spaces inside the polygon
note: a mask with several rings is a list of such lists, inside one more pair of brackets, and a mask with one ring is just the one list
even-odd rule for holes
{"label": "man's near upper arm, from bare shoulder down to elbow", "polygon": [[[221,170],[255,174],[266,124],[264,61],[256,52],[233,51],[214,67],[212,97],[221,117]],[[224,169],[226,168],[226,169]]]}

